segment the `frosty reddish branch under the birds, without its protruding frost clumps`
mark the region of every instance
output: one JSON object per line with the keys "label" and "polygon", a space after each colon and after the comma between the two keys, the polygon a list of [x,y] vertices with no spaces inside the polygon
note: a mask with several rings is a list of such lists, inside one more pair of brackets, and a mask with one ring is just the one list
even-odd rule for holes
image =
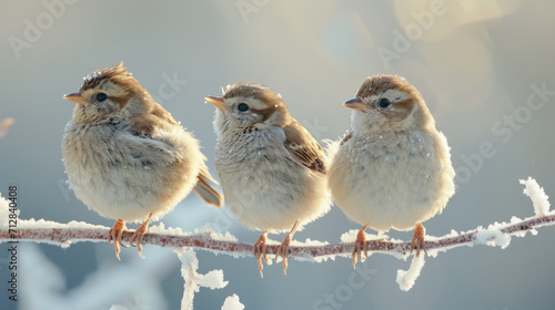
{"label": "frosty reddish branch under the birds, without its protruding frost clumps", "polygon": [[[44,226],[50,226],[47,228]],[[470,245],[493,245],[503,246],[506,238],[511,236],[523,237],[526,231],[536,234],[537,228],[542,226],[555,225],[555,214],[551,213],[545,216],[531,217],[524,220],[513,217],[511,223],[502,223],[491,225],[488,228],[477,227],[474,230],[457,234],[451,234],[436,238],[426,236],[426,248],[428,255],[434,251],[444,251],[451,248],[470,246]],[[34,228],[33,226],[38,226]],[[20,220],[20,227],[16,229],[16,238],[10,237],[8,229],[0,229],[0,242],[9,240],[19,241],[36,241],[43,244],[54,244],[62,247],[68,247],[73,242],[82,241],[108,241],[108,230],[110,228],[103,226],[93,226],[85,223],[71,221],[69,224],[58,224],[44,220]],[[163,232],[153,232],[159,230]],[[356,230],[346,232],[342,239],[354,239]],[[132,231],[123,232],[123,242],[131,240]],[[393,239],[384,239],[386,236],[369,235],[369,252],[390,254],[395,257],[403,258],[411,252],[411,241],[401,241]],[[376,239],[380,238],[380,239]],[[271,241],[270,241],[271,242]],[[234,257],[252,256],[253,245],[236,242],[235,238],[229,234],[225,236],[211,231],[204,228],[195,232],[182,232],[181,229],[164,229],[161,226],[151,227],[148,234],[144,235],[143,244],[154,245],[159,247],[189,247],[202,250],[210,250],[219,254],[226,254]],[[349,257],[353,251],[353,242],[340,242],[329,245],[326,242],[311,241],[292,242],[289,257],[304,261],[321,261],[322,259],[333,258],[334,256]],[[269,254],[275,254],[279,242],[268,246]]]}

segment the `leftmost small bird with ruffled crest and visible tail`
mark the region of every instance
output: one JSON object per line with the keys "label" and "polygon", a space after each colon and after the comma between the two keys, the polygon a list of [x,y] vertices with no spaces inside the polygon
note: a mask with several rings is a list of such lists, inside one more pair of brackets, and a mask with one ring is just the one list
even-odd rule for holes
{"label": "leftmost small bird with ruffled crest and visible tail", "polygon": [[199,141],[161,105],[120,62],[84,78],[62,141],[63,163],[75,196],[103,217],[117,219],[109,232],[120,259],[125,221],[142,221],[132,241],[141,241],[149,221],[171,211],[191,190],[220,207],[222,196]]}

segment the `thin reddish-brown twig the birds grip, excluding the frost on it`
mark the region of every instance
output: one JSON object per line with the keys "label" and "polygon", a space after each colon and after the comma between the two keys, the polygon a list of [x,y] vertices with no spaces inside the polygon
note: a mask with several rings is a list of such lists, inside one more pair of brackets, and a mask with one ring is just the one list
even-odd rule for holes
{"label": "thin reddish-brown twig the birds grip, excluding the frost on it", "polygon": [[[58,224],[59,225],[59,224]],[[500,224],[496,226],[503,235],[515,236],[542,226],[555,225],[555,214],[551,213],[541,217],[532,217],[525,220],[517,220],[511,224]],[[69,246],[78,241],[108,241],[108,227],[103,228],[20,228],[17,229],[17,237],[12,239],[8,229],[0,229],[0,242],[6,241],[36,241],[47,244],[58,244]],[[442,237],[426,241],[426,248],[431,250],[447,250],[454,247],[486,244],[495,237],[488,237],[485,241],[477,240],[477,234],[487,229],[477,227],[474,230],[461,234],[455,237]],[[129,244],[132,231],[123,232],[123,241]],[[433,238],[433,237],[432,237]],[[397,240],[369,240],[369,252],[382,252],[393,256],[406,257],[410,255],[410,241]],[[241,244],[222,238],[214,232],[199,232],[194,235],[172,235],[172,234],[145,234],[143,244],[159,247],[190,247],[202,250],[211,250],[232,256],[252,256],[253,245]],[[275,254],[278,245],[269,245],[268,252]],[[323,246],[292,246],[289,257],[299,260],[316,260],[330,256],[350,256],[353,251],[353,244],[334,244]]]}

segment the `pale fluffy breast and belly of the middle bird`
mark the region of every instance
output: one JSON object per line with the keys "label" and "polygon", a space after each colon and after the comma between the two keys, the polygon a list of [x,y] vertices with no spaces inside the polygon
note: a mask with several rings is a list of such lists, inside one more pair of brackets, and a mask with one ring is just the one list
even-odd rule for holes
{"label": "pale fluffy breast and belly of the middle bird", "polygon": [[225,203],[250,228],[286,231],[330,209],[325,175],[294,159],[284,141],[281,128],[219,137],[215,166]]}

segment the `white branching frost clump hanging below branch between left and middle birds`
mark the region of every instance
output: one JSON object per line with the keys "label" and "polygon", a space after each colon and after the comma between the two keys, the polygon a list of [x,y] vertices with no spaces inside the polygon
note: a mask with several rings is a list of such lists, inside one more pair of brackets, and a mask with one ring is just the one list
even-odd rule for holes
{"label": "white branching frost clump hanging below branch between left and middle birds", "polygon": [[178,254],[181,260],[181,277],[185,280],[181,309],[193,309],[194,293],[201,287],[222,289],[228,286],[228,281],[223,280],[223,271],[221,269],[212,270],[206,275],[196,272],[199,269],[199,259],[196,259],[196,254],[193,250],[174,249],[173,251]]}

